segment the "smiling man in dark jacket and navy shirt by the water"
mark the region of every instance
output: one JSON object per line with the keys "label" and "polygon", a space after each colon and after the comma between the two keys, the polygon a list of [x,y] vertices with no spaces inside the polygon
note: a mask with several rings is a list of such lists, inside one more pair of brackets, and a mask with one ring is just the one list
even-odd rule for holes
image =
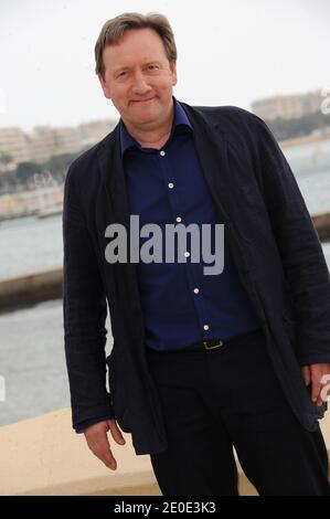
{"label": "smiling man in dark jacket and navy shirt by the water", "polygon": [[[107,432],[118,444],[120,428],[131,433],[163,495],[237,495],[233,446],[260,495],[329,495],[318,424],[330,372],[329,272],[284,155],[255,115],[173,97],[177,50],[164,17],[109,20],[95,55],[121,118],[65,182],[74,428],[111,469]],[[185,263],[113,262],[110,225],[135,248],[130,215],[161,230],[223,224],[223,271],[204,274],[190,246]]]}

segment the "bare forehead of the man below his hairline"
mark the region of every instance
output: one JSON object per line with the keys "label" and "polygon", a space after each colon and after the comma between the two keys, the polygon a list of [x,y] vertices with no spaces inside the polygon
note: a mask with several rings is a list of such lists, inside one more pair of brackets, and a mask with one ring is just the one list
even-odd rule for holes
{"label": "bare forehead of the man below his hairline", "polygon": [[143,61],[167,60],[159,34],[152,29],[132,29],[115,45],[107,45],[103,52],[106,67],[130,66]]}

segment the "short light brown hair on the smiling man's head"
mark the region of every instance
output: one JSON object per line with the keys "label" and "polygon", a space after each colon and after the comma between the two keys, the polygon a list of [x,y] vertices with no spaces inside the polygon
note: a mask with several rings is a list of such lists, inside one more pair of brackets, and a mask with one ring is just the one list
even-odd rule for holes
{"label": "short light brown hair on the smiling man's head", "polygon": [[125,12],[108,20],[102,28],[95,44],[95,72],[104,77],[105,66],[103,51],[107,45],[115,45],[126,31],[131,29],[152,29],[162,40],[170,67],[177,62],[177,45],[169,20],[160,13],[151,12],[140,14],[138,12]]}

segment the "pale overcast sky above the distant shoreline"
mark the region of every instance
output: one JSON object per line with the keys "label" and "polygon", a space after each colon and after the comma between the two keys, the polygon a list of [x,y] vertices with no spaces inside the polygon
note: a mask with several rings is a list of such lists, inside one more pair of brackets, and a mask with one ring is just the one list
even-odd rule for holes
{"label": "pale overcast sky above the distant shoreline", "polygon": [[118,118],[94,45],[104,22],[128,11],[169,18],[179,100],[251,109],[330,89],[329,0],[0,0],[0,127]]}

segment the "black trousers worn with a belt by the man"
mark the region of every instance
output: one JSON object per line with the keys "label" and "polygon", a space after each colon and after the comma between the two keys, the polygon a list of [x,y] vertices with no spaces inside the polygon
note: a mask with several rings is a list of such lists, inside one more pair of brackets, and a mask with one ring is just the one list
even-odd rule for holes
{"label": "black trousers worn with a belt by the man", "polygon": [[164,496],[237,496],[241,466],[262,496],[329,496],[320,428],[289,407],[263,332],[205,351],[147,353],[169,447],[150,455]]}

